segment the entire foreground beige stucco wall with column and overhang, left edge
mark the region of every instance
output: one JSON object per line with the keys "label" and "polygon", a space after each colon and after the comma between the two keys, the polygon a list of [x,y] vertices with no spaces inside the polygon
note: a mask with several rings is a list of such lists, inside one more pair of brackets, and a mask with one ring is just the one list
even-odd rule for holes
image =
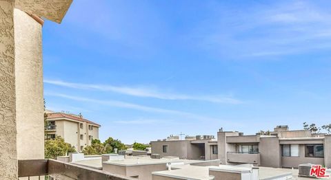
{"label": "entire foreground beige stucco wall with column and overhang, left edge", "polygon": [[31,16],[61,22],[71,2],[0,0],[0,179],[18,179],[18,159],[43,158],[41,25]]}

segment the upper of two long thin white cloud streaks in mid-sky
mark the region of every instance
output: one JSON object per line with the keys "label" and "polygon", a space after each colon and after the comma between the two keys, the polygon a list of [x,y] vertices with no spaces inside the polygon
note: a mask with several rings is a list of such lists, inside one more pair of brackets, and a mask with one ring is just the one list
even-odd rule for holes
{"label": "upper of two long thin white cloud streaks in mid-sky", "polygon": [[90,89],[97,91],[112,91],[125,95],[132,95],[143,98],[157,98],[161,100],[199,100],[206,102],[228,103],[228,104],[241,104],[241,100],[232,97],[209,96],[209,95],[183,95],[176,93],[163,93],[157,89],[147,87],[118,87],[112,85],[92,85],[82,83],[65,82],[62,80],[44,80],[45,83],[50,85],[57,85],[61,87],[70,87],[74,89]]}

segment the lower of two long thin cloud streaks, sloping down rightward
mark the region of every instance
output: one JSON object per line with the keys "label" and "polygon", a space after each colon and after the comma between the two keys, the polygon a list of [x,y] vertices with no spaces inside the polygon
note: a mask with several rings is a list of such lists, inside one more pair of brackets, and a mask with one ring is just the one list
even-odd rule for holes
{"label": "lower of two long thin cloud streaks, sloping down rightward", "polygon": [[172,115],[179,115],[181,117],[187,117],[192,120],[208,120],[208,121],[213,121],[213,122],[221,122],[222,120],[219,120],[217,118],[212,118],[212,117],[205,117],[203,115],[197,115],[194,113],[188,113],[184,111],[177,111],[177,110],[171,110],[171,109],[161,109],[157,107],[151,107],[151,106],[143,106],[140,104],[133,104],[129,102],[123,102],[123,101],[117,101],[117,100],[97,100],[97,99],[92,99],[92,98],[83,98],[79,96],[74,96],[74,95],[66,95],[63,93],[44,93],[45,95],[48,96],[55,96],[59,98],[66,98],[69,100],[76,100],[80,102],[91,102],[94,104],[103,104],[106,106],[114,106],[114,107],[119,107],[123,109],[135,109],[138,111],[146,111],[150,113],[165,113],[165,114],[172,114]]}

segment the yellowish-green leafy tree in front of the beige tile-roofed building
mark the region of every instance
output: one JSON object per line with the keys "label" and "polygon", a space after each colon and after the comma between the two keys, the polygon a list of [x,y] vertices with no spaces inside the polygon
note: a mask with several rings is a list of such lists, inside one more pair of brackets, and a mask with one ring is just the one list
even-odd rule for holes
{"label": "yellowish-green leafy tree in front of the beige tile-roofed building", "polygon": [[71,144],[64,142],[64,139],[60,136],[55,137],[55,139],[48,139],[45,142],[45,157],[47,159],[56,159],[58,156],[74,152],[76,152],[76,149]]}

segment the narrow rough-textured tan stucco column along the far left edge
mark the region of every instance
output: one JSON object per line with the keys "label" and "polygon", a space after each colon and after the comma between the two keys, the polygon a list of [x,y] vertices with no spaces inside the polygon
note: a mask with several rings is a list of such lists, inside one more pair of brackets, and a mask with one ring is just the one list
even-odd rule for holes
{"label": "narrow rough-textured tan stucco column along the far left edge", "polygon": [[0,0],[0,179],[17,179],[14,1]]}

